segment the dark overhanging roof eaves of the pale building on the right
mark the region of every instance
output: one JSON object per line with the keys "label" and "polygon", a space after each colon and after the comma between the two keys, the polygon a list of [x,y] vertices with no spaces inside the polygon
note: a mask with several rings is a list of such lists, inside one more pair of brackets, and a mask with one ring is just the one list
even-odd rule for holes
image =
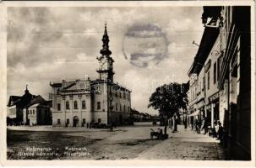
{"label": "dark overhanging roof eaves of the pale building on the right", "polygon": [[198,53],[195,55],[193,64],[188,71],[188,76],[193,73],[199,74],[204,66],[204,62],[210,54],[210,50],[215,44],[215,40],[218,38],[220,33],[219,28],[205,27],[204,34],[202,36]]}

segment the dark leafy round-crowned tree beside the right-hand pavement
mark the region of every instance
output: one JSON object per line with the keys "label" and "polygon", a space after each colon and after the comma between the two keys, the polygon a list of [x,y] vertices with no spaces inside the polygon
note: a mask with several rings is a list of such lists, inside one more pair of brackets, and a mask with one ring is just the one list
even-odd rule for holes
{"label": "dark leafy round-crowned tree beside the right-hand pavement", "polygon": [[160,116],[164,118],[164,134],[166,134],[168,118],[172,118],[180,108],[187,110],[187,91],[188,84],[174,82],[157,87],[155,92],[151,94],[148,108],[152,107],[155,110],[159,110]]}

